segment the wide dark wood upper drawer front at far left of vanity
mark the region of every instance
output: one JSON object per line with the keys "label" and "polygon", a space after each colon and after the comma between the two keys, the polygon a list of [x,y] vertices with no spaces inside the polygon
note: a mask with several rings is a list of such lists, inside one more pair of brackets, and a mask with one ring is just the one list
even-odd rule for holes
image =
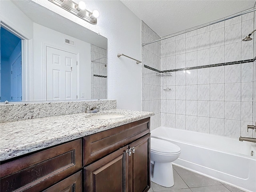
{"label": "wide dark wood upper drawer front at far left of vanity", "polygon": [[82,140],[0,165],[1,192],[37,192],[82,168]]}

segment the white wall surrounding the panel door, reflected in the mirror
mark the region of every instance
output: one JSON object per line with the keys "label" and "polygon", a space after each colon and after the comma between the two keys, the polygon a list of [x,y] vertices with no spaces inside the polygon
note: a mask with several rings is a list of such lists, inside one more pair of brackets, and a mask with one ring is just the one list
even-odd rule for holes
{"label": "white wall surrounding the panel door, reflected in the mirror", "polygon": [[[65,38],[75,42],[75,46],[64,44]],[[84,93],[83,99],[91,98],[91,45],[68,35],[56,32],[34,23],[33,38],[33,98],[32,100],[46,100],[46,65],[44,61],[45,46],[59,48],[80,55],[80,96]],[[44,82],[44,83],[43,83]]]}

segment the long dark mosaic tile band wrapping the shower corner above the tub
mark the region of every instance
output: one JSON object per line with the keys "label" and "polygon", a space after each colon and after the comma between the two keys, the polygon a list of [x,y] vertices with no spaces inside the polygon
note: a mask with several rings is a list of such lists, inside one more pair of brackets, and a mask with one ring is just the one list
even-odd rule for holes
{"label": "long dark mosaic tile band wrapping the shower corner above the tub", "polygon": [[195,66],[195,67],[186,67],[186,68],[164,70],[164,71],[160,71],[160,70],[154,69],[154,68],[149,67],[147,65],[144,65],[144,67],[148,68],[150,70],[156,71],[158,73],[167,73],[167,72],[176,72],[176,71],[184,71],[184,70],[202,69],[202,68],[208,68],[208,67],[218,67],[218,66],[225,66],[225,65],[235,65],[235,64],[242,64],[242,63],[250,63],[250,62],[254,62],[255,60],[256,60],[256,57],[254,57],[253,59],[248,59],[248,60],[233,61],[233,62],[226,62],[226,63],[217,63],[217,64],[212,64],[212,65],[203,65],[203,66]]}

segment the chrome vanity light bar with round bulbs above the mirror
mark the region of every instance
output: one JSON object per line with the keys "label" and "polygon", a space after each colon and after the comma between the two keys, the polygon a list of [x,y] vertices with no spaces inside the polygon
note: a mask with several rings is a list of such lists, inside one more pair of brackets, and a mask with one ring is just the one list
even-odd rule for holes
{"label": "chrome vanity light bar with round bulbs above the mirror", "polygon": [[83,20],[86,20],[91,24],[97,24],[97,18],[99,16],[99,12],[97,10],[94,10],[93,12],[86,10],[85,9],[86,4],[83,1],[80,1],[78,4],[73,2],[72,0],[48,0],[48,1],[60,6],[61,8],[64,8],[70,13],[82,18]]}

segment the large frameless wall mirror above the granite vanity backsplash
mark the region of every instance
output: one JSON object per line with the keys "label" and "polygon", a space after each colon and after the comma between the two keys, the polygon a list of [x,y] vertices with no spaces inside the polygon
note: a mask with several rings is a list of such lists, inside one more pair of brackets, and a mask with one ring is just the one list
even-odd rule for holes
{"label": "large frameless wall mirror above the granite vanity backsplash", "polygon": [[107,98],[105,37],[31,0],[1,1],[0,22],[0,102]]}

